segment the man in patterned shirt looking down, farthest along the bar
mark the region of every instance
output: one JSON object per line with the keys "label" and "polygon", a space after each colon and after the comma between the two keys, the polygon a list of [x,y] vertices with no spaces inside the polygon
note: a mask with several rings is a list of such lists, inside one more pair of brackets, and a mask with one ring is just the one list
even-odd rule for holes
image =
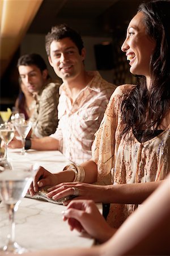
{"label": "man in patterned shirt looking down, farthest along the bar", "polygon": [[48,136],[56,131],[58,125],[59,84],[51,81],[45,61],[39,54],[21,56],[17,66],[20,79],[36,100],[36,107],[30,119],[31,137]]}

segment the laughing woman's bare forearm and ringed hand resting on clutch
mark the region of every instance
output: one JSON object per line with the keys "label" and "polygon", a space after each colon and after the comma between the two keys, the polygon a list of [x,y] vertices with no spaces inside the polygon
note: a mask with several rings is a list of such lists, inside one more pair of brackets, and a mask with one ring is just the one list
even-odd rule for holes
{"label": "laughing woman's bare forearm and ringed hand resting on clutch", "polygon": [[[79,189],[77,199],[91,199],[96,203],[141,204],[162,181],[137,184],[92,185],[85,183],[61,183],[48,189],[49,197],[58,200],[73,195],[73,188]],[[67,202],[69,203],[69,202]]]}

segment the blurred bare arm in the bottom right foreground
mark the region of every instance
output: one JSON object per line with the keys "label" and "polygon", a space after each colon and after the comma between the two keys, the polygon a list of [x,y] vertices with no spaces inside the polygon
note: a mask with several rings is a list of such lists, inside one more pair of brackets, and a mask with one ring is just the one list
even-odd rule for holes
{"label": "blurred bare arm in the bottom right foreground", "polygon": [[169,255],[169,177],[105,243],[104,255]]}

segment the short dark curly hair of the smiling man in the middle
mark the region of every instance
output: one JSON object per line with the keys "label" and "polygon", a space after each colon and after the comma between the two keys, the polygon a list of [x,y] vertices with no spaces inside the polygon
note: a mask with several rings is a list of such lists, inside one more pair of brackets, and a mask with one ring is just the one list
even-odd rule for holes
{"label": "short dark curly hair of the smiling man in the middle", "polygon": [[79,54],[82,54],[84,45],[80,34],[66,24],[60,24],[58,26],[52,27],[51,32],[45,36],[45,49],[48,56],[50,56],[50,44],[53,41],[58,41],[63,38],[70,38],[78,48]]}

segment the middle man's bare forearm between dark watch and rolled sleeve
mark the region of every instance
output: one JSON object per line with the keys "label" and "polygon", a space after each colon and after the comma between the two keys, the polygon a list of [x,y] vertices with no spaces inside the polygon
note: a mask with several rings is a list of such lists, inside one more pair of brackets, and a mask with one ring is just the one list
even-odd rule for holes
{"label": "middle man's bare forearm between dark watch and rolled sleeve", "polygon": [[35,150],[58,150],[58,140],[51,137],[31,139],[31,149]]}

